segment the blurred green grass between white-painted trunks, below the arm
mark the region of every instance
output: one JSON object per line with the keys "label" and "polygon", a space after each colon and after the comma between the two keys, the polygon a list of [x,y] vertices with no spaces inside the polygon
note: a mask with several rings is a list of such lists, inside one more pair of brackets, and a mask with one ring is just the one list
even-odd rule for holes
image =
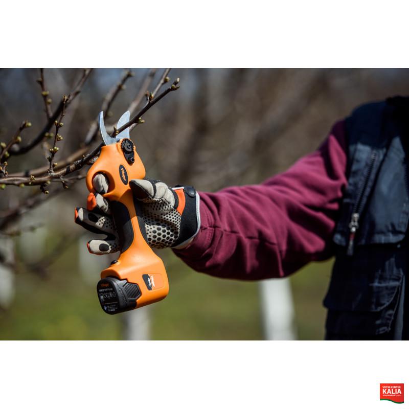
{"label": "blurred green grass between white-painted trunks, below the arm", "polygon": [[[99,271],[95,283],[84,280],[76,252],[65,252],[48,279],[19,271],[14,302],[0,313],[0,339],[121,339],[121,316],[103,313],[96,297]],[[150,309],[152,339],[263,339],[257,282],[209,277],[170,251],[161,256],[170,293]],[[299,339],[323,339],[331,264],[311,263],[290,279]]]}

